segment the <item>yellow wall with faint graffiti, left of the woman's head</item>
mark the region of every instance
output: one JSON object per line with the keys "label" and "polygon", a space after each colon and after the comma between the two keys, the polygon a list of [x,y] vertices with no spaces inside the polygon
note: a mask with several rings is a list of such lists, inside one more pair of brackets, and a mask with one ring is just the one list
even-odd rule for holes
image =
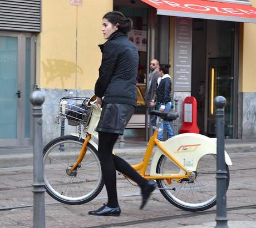
{"label": "yellow wall with faint graffiti, left of the woman's head", "polygon": [[37,83],[41,88],[93,89],[104,43],[102,16],[112,0],[42,1],[42,32],[37,37]]}

